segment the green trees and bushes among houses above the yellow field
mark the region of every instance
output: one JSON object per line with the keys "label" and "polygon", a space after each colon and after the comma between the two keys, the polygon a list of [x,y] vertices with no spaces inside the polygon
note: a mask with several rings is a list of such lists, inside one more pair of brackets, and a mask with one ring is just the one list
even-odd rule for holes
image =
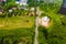
{"label": "green trees and bushes among houses above the yellow field", "polygon": [[[25,15],[25,13],[29,12],[29,10],[24,10],[24,9],[20,9],[20,8],[24,8],[24,7],[16,4],[15,0],[8,0],[7,3],[0,4],[0,9],[3,10],[2,14],[0,14],[0,18]],[[25,7],[25,8],[28,8],[28,7]],[[12,10],[12,12],[9,12],[9,10]]]}

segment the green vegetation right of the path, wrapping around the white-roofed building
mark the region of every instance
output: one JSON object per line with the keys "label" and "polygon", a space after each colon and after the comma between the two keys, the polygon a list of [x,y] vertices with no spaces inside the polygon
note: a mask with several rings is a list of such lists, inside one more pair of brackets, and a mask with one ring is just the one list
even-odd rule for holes
{"label": "green vegetation right of the path, wrapping around the white-roofed building", "polygon": [[38,28],[40,44],[66,44],[66,15],[57,13],[61,9],[59,6],[59,3],[41,4],[40,8],[44,11],[43,14],[53,20],[53,25],[47,29]]}

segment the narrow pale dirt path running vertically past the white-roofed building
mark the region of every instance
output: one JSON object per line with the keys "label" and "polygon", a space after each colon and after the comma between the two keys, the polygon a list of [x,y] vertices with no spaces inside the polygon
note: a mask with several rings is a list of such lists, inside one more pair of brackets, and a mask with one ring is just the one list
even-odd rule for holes
{"label": "narrow pale dirt path running vertically past the white-roofed building", "polygon": [[[37,7],[36,14],[41,15],[41,13],[43,13],[43,11],[40,11],[40,9]],[[36,16],[36,19],[35,19],[35,42],[34,42],[34,44],[38,44],[38,41],[37,41],[37,37],[38,37],[38,21],[40,21],[40,18]]]}

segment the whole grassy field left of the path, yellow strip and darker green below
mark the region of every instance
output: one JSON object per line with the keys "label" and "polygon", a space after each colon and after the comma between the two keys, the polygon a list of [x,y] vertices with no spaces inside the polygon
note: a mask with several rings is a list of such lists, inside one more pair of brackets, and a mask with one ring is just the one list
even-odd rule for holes
{"label": "whole grassy field left of the path, yellow strip and darker green below", "polygon": [[34,16],[0,18],[0,44],[33,44]]}

